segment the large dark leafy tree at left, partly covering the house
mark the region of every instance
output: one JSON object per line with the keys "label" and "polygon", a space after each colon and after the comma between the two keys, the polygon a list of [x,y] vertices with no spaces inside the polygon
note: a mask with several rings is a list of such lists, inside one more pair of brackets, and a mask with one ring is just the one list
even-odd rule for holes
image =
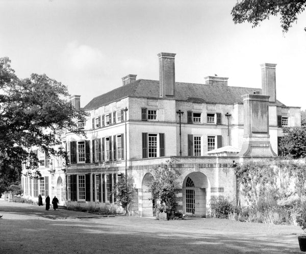
{"label": "large dark leafy tree at left, partly covering the house", "polygon": [[0,58],[0,91],[0,184],[5,187],[19,180],[25,160],[30,159],[29,169],[37,168],[33,146],[67,158],[54,145],[64,129],[83,134],[77,122],[86,114],[72,106],[62,83],[45,74],[19,79],[8,58]]}

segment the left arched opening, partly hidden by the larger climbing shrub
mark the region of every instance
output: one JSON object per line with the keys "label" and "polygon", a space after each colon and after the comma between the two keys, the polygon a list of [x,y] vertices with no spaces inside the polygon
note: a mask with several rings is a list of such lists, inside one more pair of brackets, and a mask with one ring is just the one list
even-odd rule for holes
{"label": "left arched opening, partly hidden by the larger climbing shrub", "polygon": [[155,202],[151,199],[151,192],[148,191],[148,183],[152,181],[153,176],[150,173],[144,175],[141,185],[141,216],[155,216]]}

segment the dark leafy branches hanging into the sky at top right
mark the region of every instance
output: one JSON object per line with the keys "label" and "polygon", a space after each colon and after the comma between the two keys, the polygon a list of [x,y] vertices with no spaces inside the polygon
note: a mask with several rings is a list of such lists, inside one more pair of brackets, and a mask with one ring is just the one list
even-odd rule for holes
{"label": "dark leafy branches hanging into the sky at top right", "polygon": [[288,32],[298,14],[305,10],[305,0],[241,0],[232,9],[235,24],[248,22],[252,27],[270,16],[280,16],[284,33]]}

